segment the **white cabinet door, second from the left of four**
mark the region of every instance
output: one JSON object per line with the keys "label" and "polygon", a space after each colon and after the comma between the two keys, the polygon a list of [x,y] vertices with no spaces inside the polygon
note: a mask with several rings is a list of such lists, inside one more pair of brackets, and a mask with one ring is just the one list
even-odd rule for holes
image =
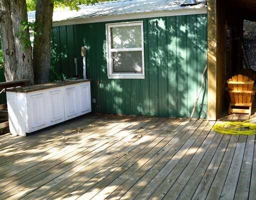
{"label": "white cabinet door, second from the left of four", "polygon": [[65,120],[63,91],[61,88],[55,88],[48,91],[48,113],[49,125]]}

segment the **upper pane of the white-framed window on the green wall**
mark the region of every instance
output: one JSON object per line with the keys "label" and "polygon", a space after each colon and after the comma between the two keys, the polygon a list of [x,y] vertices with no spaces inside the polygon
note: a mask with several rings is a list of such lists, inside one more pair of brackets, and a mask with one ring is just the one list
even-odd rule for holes
{"label": "upper pane of the white-framed window on the green wall", "polygon": [[140,48],[141,26],[111,27],[111,48]]}

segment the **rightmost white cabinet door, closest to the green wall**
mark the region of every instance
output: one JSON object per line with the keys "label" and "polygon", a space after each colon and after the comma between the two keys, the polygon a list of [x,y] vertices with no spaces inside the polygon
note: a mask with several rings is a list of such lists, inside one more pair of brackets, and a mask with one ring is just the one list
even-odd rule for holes
{"label": "rightmost white cabinet door, closest to the green wall", "polygon": [[90,104],[90,83],[87,82],[79,86],[79,105],[80,114],[85,114],[91,111]]}

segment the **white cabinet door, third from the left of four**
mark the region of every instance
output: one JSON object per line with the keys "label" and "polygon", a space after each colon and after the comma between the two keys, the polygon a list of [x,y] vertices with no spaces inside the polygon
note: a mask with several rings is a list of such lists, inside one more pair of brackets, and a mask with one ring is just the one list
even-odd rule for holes
{"label": "white cabinet door, third from the left of four", "polygon": [[65,87],[64,89],[65,120],[78,115],[77,87]]}

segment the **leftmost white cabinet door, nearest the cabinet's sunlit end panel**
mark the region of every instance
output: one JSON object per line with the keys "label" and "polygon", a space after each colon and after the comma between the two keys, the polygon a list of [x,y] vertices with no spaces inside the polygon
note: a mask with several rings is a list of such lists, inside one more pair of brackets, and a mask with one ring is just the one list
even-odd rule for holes
{"label": "leftmost white cabinet door, nearest the cabinet's sunlit end panel", "polygon": [[46,126],[47,111],[43,92],[29,93],[27,96],[29,132]]}

